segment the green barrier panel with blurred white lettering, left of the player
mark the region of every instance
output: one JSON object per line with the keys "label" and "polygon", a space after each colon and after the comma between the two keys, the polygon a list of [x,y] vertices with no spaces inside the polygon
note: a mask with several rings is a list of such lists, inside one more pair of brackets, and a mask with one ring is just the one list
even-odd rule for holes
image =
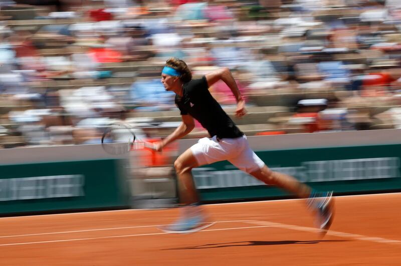
{"label": "green barrier panel with blurred white lettering, left of the player", "polygon": [[129,207],[121,159],[0,165],[0,213]]}

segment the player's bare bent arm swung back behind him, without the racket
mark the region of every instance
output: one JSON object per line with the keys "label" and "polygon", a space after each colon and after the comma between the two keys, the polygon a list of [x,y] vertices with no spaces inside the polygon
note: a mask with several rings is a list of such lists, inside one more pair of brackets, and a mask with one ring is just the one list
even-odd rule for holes
{"label": "player's bare bent arm swung back behind him, without the racket", "polygon": [[241,117],[247,113],[245,109],[245,101],[241,95],[241,92],[235,82],[233,75],[229,68],[224,67],[207,73],[205,75],[206,81],[208,82],[209,86],[212,86],[214,83],[219,81],[220,79],[223,80],[233,92],[236,100],[237,100],[237,109],[236,109],[236,116]]}

